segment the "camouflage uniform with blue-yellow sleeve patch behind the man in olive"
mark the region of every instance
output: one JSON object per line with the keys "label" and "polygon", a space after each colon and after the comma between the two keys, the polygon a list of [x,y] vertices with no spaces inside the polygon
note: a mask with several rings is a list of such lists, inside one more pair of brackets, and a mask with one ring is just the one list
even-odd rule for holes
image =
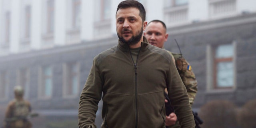
{"label": "camouflage uniform with blue-yellow sleeve patch behind the man in olive", "polygon": [[[166,51],[169,52],[175,60],[177,70],[188,92],[190,106],[192,106],[197,92],[196,76],[190,64],[181,56],[181,54],[172,53],[168,50]],[[176,121],[176,124],[173,126],[166,126],[166,128],[180,128],[178,120]]]}

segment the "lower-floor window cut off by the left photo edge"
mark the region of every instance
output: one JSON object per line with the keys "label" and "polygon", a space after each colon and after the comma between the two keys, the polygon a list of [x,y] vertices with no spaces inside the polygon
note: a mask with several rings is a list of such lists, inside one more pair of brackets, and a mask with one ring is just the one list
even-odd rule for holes
{"label": "lower-floor window cut off by the left photo edge", "polygon": [[6,71],[0,72],[0,99],[7,98],[8,76]]}

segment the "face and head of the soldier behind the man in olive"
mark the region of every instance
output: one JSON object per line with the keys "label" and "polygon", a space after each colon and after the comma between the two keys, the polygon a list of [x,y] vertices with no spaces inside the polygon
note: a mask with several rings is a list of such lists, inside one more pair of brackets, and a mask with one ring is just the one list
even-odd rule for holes
{"label": "face and head of the soldier behind the man in olive", "polygon": [[166,42],[168,38],[166,29],[160,22],[150,22],[146,27],[144,36],[150,44],[158,48],[163,48],[164,42]]}

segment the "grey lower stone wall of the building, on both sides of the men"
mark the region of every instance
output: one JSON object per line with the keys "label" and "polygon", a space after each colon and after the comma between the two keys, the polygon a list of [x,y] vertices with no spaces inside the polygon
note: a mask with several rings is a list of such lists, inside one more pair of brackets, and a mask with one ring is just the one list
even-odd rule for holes
{"label": "grey lower stone wall of the building, on both sides of the men", "polygon": [[[256,14],[250,14],[247,16],[240,16],[238,18],[227,19],[226,22],[230,23],[230,20],[245,20],[246,18],[256,17]],[[188,26],[182,26],[178,28],[168,28],[168,32],[171,35],[166,42],[165,48],[173,52],[179,52],[174,39],[178,41],[180,49],[184,57],[190,62],[196,78],[198,80],[198,94],[195,100],[195,107],[200,107],[206,102],[213,99],[232,100],[236,104],[242,105],[246,100],[256,98],[253,93],[255,84],[256,69],[254,64],[256,63],[255,47],[256,38],[254,37],[256,32],[256,22],[223,26],[218,27],[216,24],[219,20],[212,22],[196,23]],[[207,29],[207,26],[216,26],[216,28]],[[206,29],[198,30],[198,26],[205,26]],[[177,32],[178,30],[188,30],[194,28],[193,31]],[[177,32],[175,34],[175,32]],[[173,34],[172,34],[173,33]],[[14,54],[11,56],[1,57],[1,69],[8,70],[10,72],[10,86],[9,90],[12,90],[16,83],[16,71],[22,67],[30,68],[30,92],[29,100],[32,101],[35,108],[47,109],[49,106],[53,109],[66,108],[68,104],[72,103],[68,108],[77,108],[77,102],[79,95],[74,99],[66,99],[62,96],[62,64],[65,62],[79,62],[80,68],[80,90],[86,81],[90,66],[92,65],[92,59],[98,53],[110,48],[117,43],[117,38],[111,38],[111,40],[97,40],[88,42],[87,44],[76,44],[73,46],[62,46],[58,48],[52,48],[47,50],[41,50],[38,52],[28,52],[23,54]],[[232,90],[211,90],[207,89],[207,46],[223,44],[227,42],[236,42],[236,88]],[[98,45],[102,44],[102,45]],[[248,63],[245,63],[248,62]],[[245,65],[246,64],[246,65]],[[38,98],[38,69],[40,66],[51,65],[53,67],[53,85],[54,93],[51,99],[41,100]],[[255,88],[254,88],[255,89]],[[243,92],[249,91],[245,94]],[[250,93],[251,92],[251,93]],[[247,96],[248,95],[248,96]],[[240,98],[244,97],[244,98]],[[8,100],[11,99],[12,93],[9,93]],[[246,100],[244,100],[246,99]],[[8,101],[6,100],[6,101]],[[60,101],[60,104],[56,104],[56,101]],[[62,102],[65,101],[65,102]]]}

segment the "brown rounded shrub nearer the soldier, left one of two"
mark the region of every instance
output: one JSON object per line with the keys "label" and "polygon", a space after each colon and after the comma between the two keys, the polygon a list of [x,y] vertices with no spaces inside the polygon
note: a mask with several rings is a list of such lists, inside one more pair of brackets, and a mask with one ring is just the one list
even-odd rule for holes
{"label": "brown rounded shrub nearer the soldier, left one of two", "polygon": [[204,123],[202,128],[235,128],[236,107],[232,102],[212,100],[200,108],[198,115]]}

